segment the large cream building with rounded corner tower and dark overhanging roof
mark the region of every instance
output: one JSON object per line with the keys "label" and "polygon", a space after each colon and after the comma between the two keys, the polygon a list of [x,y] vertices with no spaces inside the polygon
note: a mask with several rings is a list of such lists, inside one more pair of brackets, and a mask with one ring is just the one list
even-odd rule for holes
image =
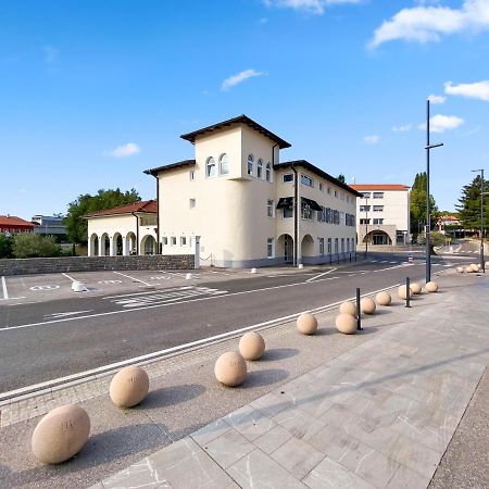
{"label": "large cream building with rounded corner tower and dark overhanging roof", "polygon": [[163,254],[225,267],[354,255],[360,193],[304,160],[279,162],[287,141],[246,115],[180,137],[195,160],[145,172],[156,178]]}

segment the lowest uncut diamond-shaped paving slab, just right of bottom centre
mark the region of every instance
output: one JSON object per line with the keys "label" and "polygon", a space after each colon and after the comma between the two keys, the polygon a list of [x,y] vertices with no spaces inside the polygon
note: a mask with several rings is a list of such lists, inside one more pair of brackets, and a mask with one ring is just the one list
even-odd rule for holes
{"label": "lowest uncut diamond-shaped paving slab, just right of bottom centre", "polygon": [[325,457],[324,453],[297,438],[291,438],[271,456],[298,479],[302,479]]}

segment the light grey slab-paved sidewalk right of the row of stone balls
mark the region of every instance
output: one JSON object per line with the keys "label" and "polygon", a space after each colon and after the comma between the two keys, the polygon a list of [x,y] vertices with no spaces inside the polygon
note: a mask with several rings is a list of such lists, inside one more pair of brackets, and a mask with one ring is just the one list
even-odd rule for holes
{"label": "light grey slab-paved sidewalk right of the row of stone balls", "polygon": [[478,280],[92,488],[426,488],[489,361]]}

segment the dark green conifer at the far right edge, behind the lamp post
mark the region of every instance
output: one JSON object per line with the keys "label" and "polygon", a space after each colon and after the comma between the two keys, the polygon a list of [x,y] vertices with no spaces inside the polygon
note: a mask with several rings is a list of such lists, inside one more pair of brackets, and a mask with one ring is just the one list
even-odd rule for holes
{"label": "dark green conifer at the far right edge, behind the lamp post", "polygon": [[[462,188],[462,197],[455,209],[459,211],[459,218],[465,229],[480,229],[480,175],[477,175],[468,185]],[[489,192],[489,181],[484,181],[484,192]],[[484,229],[488,229],[489,196],[482,196],[484,205]]]}

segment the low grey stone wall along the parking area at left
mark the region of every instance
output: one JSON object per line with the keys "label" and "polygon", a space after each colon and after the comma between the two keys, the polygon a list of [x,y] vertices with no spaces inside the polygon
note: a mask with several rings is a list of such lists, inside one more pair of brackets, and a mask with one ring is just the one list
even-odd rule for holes
{"label": "low grey stone wall along the parking area at left", "polygon": [[193,254],[0,260],[0,276],[104,269],[192,269]]}

